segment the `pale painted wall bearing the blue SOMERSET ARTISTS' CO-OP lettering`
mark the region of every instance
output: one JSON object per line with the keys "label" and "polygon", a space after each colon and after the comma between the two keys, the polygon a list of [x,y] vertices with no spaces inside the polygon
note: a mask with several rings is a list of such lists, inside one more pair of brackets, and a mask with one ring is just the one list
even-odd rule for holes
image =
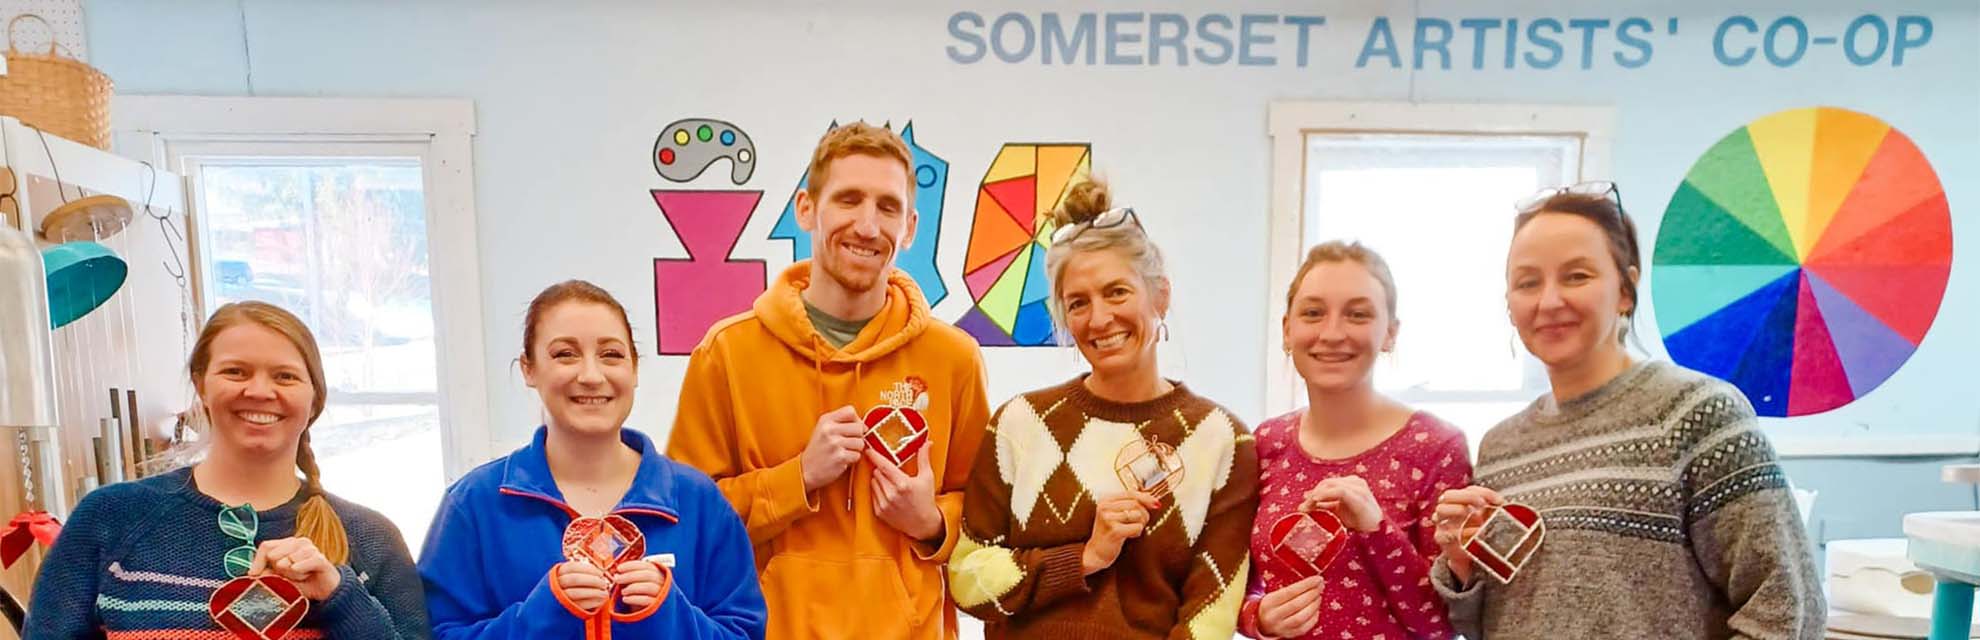
{"label": "pale painted wall bearing the blue SOMERSET ARTISTS' CO-OP lettering", "polygon": [[[954,12],[994,20],[1040,12],[1325,14],[1311,63],[1295,65],[1293,30],[1271,32],[1277,65],[1040,65],[956,63],[944,48]],[[1727,67],[1713,28],[1727,16],[1800,16],[1839,34],[1859,14],[1929,16],[1934,34],[1903,67],[1849,65],[1816,48],[1800,63]],[[649,160],[669,121],[719,117],[741,125],[760,160],[748,188],[766,194],[737,258],[788,260],[766,240],[778,210],[832,119],[903,123],[950,162],[940,264],[950,297],[937,313],[960,317],[962,246],[974,190],[1006,141],[1089,141],[1095,166],[1133,202],[1176,267],[1172,374],[1245,420],[1263,418],[1269,202],[1265,105],[1273,99],[1507,101],[1616,105],[1612,164],[1626,184],[1645,246],[1657,214],[1717,139],[1760,115],[1810,105],[1879,115],[1919,141],[1952,200],[1962,252],[1938,323],[1911,363],[1875,394],[1843,410],[1776,420],[1776,440],[1980,434],[1980,402],[1954,384],[1980,359],[1980,10],[1970,2],[303,2],[93,0],[91,61],[121,93],[467,97],[477,107],[475,172],[485,333],[495,450],[521,444],[537,400],[509,367],[529,297],[564,277],[594,279],[634,309],[642,345],[653,345],[651,260],[683,258],[647,188],[669,188]],[[1622,69],[1598,40],[1594,69],[1578,44],[1554,69],[1354,67],[1370,20],[1400,30],[1437,18],[1645,16],[1677,36],[1653,36],[1651,63]],[[1144,28],[1138,28],[1144,30]],[[1137,32],[1138,32],[1137,30]],[[1404,32],[1406,36],[1406,32]],[[1459,32],[1459,52],[1469,34]],[[1408,48],[1408,44],[1404,44]],[[713,170],[697,188],[729,188]],[[1469,266],[1467,266],[1469,267]],[[1497,267],[1475,266],[1475,267]],[[1651,313],[1643,313],[1649,335]],[[1503,321],[1481,317],[1479,321]],[[1657,349],[1657,345],[1651,345]],[[1002,400],[1075,373],[1065,351],[992,353],[990,394]],[[681,359],[649,361],[634,424],[663,434]],[[774,402],[766,394],[764,402]],[[1857,440],[1865,442],[1865,440]]]}

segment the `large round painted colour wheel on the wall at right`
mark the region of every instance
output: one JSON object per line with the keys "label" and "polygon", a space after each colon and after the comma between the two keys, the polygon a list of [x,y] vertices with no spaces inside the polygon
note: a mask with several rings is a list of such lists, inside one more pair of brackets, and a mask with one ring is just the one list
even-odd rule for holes
{"label": "large round painted colour wheel on the wall at right", "polygon": [[1738,386],[1762,416],[1871,392],[1932,327],[1952,214],[1930,162],[1845,109],[1780,111],[1691,164],[1651,256],[1671,359]]}

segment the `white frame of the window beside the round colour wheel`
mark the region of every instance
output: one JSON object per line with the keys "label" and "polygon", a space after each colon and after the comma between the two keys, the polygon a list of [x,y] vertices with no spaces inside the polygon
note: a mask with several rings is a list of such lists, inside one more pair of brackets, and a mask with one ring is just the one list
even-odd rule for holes
{"label": "white frame of the window beside the round colour wheel", "polygon": [[[1459,103],[1350,103],[1275,101],[1269,107],[1271,218],[1267,222],[1265,416],[1305,402],[1299,373],[1279,349],[1285,289],[1293,285],[1307,238],[1307,135],[1313,133],[1422,133],[1422,135],[1572,135],[1582,139],[1582,180],[1606,178],[1616,149],[1616,109],[1602,105],[1459,105]],[[1511,202],[1507,202],[1511,206]]]}

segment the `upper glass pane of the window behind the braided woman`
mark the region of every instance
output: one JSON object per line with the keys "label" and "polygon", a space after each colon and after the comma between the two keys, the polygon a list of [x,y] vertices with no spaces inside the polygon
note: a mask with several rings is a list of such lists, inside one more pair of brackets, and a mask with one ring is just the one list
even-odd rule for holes
{"label": "upper glass pane of the window behind the braided woman", "polygon": [[200,182],[216,305],[295,311],[337,390],[436,390],[416,162],[214,162]]}

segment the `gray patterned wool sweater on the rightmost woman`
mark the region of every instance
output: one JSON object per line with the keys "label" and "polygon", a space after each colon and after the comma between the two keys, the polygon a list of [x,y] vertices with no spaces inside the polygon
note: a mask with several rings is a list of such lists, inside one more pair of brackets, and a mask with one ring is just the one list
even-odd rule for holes
{"label": "gray patterned wool sweater on the rightmost woman", "polygon": [[1432,583],[1473,640],[1822,638],[1828,606],[1788,478],[1727,382],[1637,363],[1602,388],[1507,418],[1477,483],[1540,511],[1511,585]]}

